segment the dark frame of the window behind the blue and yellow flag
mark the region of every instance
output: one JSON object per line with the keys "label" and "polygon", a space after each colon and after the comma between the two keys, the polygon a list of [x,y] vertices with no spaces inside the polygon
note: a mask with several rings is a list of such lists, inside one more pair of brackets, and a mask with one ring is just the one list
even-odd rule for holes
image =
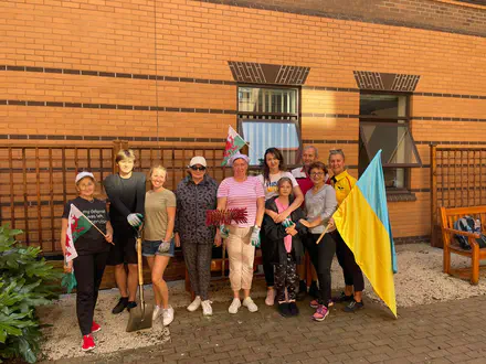
{"label": "dark frame of the window behind the blue and yellow flag", "polygon": [[[363,136],[363,131],[361,129],[362,124],[364,124],[364,125],[405,125],[409,130],[409,136],[412,140],[412,146],[413,146],[412,152],[415,154],[418,163],[383,164],[383,170],[384,169],[387,169],[387,170],[388,169],[403,169],[404,170],[403,188],[387,188],[387,193],[389,193],[389,194],[410,193],[411,174],[412,174],[411,168],[421,168],[422,167],[422,160],[420,158],[419,150],[416,149],[416,143],[415,143],[415,140],[413,139],[411,125],[410,125],[410,121],[412,119],[412,117],[410,115],[412,93],[384,92],[384,90],[360,90],[360,93],[359,93],[359,96],[360,96],[359,103],[360,104],[361,104],[361,95],[384,95],[384,96],[390,95],[390,96],[399,96],[399,97],[404,96],[405,97],[404,116],[380,117],[380,116],[370,116],[370,115],[359,115],[359,143],[363,144],[367,157],[368,157],[368,159],[370,159],[370,152],[368,149],[368,141],[366,140],[366,138]],[[360,108],[361,108],[361,105],[360,105]],[[404,122],[400,124],[399,121],[404,121]]]}

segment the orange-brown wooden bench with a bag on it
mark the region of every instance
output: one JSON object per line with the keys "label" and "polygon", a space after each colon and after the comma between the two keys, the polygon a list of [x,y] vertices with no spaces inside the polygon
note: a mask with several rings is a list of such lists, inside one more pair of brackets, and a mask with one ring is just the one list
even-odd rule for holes
{"label": "orange-brown wooden bench with a bag on it", "polygon": [[[444,242],[444,272],[469,279],[472,285],[477,285],[479,282],[479,269],[486,268],[486,266],[479,266],[479,260],[486,259],[486,248],[479,248],[476,242],[476,238],[478,238],[479,235],[454,229],[454,222],[466,215],[479,218],[483,224],[486,224],[486,206],[454,208],[441,207],[441,228]],[[472,249],[466,250],[461,248],[455,235],[467,237]],[[452,269],[452,253],[471,258],[471,268]]]}

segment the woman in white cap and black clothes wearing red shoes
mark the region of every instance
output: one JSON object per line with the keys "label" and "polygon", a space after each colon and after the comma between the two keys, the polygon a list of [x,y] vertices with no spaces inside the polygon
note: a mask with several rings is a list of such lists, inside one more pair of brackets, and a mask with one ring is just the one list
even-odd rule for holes
{"label": "woman in white cap and black clothes wearing red shoes", "polygon": [[[72,220],[72,232],[77,235],[74,248],[77,257],[64,266],[64,271],[71,272],[74,268],[74,276],[77,280],[76,287],[76,314],[83,335],[83,351],[95,349],[93,333],[102,328],[93,320],[98,289],[105,271],[106,260],[108,259],[108,243],[113,240],[113,228],[108,220],[106,202],[94,197],[96,182],[93,173],[81,172],[75,179],[78,196],[66,203],[61,223],[61,247],[64,257],[68,254],[66,249],[66,233],[68,227],[71,205],[77,207],[93,226],[83,226],[75,218]],[[103,232],[105,235],[103,235]],[[77,233],[77,234],[76,234]],[[68,242],[73,244],[73,242]],[[65,261],[65,259],[64,259]]]}

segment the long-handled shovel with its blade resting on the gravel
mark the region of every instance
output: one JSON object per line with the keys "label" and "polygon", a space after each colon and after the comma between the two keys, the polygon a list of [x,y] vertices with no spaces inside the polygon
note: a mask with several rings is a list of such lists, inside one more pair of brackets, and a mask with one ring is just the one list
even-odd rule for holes
{"label": "long-handled shovel with its blade resting on the gravel", "polygon": [[137,231],[137,256],[138,256],[138,289],[140,304],[130,310],[127,332],[150,329],[152,325],[154,304],[145,303],[144,300],[144,268],[141,266],[141,226]]}

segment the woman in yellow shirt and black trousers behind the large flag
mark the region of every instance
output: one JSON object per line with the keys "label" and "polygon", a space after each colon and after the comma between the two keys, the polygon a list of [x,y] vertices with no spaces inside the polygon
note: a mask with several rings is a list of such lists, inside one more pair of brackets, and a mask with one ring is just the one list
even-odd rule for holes
{"label": "woman in yellow shirt and black trousers behind the large flag", "polygon": [[[351,189],[356,184],[356,179],[349,175],[345,164],[345,153],[341,149],[334,149],[329,151],[329,168],[332,171],[331,185],[336,190],[336,200],[338,206],[342,203],[346,196],[351,192]],[[332,218],[330,223],[334,224]],[[349,302],[345,307],[346,312],[355,312],[363,308],[362,290],[364,289],[364,279],[361,272],[361,268],[358,266],[355,259],[355,255],[348,245],[345,243],[339,232],[336,229],[331,233],[334,240],[336,242],[336,256],[339,265],[342,268],[345,276],[345,291],[340,296],[334,297],[334,302]]]}

